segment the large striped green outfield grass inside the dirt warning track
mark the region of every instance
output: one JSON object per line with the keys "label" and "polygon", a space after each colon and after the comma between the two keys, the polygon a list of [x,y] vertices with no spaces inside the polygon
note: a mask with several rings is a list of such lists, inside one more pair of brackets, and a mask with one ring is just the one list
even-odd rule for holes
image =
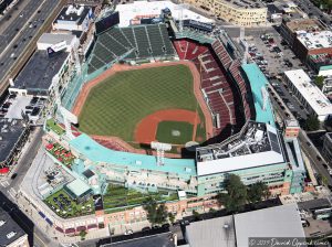
{"label": "large striped green outfield grass inside the dirt warning track", "polygon": [[[200,112],[193,87],[193,75],[185,65],[117,73],[91,90],[79,117],[80,130],[134,141],[136,125],[157,110]],[[205,125],[197,131],[204,129]]]}

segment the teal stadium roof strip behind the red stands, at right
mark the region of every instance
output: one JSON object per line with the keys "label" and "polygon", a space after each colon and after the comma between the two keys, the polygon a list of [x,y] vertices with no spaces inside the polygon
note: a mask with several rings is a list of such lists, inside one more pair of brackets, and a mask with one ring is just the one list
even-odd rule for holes
{"label": "teal stadium roof strip behind the red stands, at right", "polygon": [[268,97],[266,109],[263,109],[262,88],[266,88],[268,84],[267,77],[263,75],[256,63],[245,64],[242,65],[242,69],[245,71],[251,87],[256,110],[256,121],[266,122],[276,127],[273,111],[271,109],[271,104]]}

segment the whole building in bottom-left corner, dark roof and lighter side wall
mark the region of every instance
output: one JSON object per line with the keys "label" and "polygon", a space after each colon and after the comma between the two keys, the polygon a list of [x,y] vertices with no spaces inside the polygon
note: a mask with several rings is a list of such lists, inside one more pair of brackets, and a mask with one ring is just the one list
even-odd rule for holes
{"label": "whole building in bottom-left corner, dark roof and lighter side wall", "polygon": [[10,215],[0,207],[0,246],[3,247],[29,247],[28,235],[10,217]]}

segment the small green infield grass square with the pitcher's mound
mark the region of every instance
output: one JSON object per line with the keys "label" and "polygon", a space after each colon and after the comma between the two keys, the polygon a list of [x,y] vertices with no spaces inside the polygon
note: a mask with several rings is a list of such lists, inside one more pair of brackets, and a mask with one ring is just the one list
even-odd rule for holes
{"label": "small green infield grass square with the pitcher's mound", "polygon": [[[156,139],[159,142],[185,144],[193,141],[194,126],[185,121],[162,121],[158,124]],[[177,136],[178,132],[179,136]]]}

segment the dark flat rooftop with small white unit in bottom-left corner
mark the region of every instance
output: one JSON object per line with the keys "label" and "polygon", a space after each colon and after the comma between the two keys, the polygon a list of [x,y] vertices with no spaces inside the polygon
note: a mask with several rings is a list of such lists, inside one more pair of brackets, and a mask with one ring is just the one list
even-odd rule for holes
{"label": "dark flat rooftop with small white unit in bottom-left corner", "polygon": [[9,246],[11,243],[27,235],[25,232],[1,207],[0,232],[0,246]]}

